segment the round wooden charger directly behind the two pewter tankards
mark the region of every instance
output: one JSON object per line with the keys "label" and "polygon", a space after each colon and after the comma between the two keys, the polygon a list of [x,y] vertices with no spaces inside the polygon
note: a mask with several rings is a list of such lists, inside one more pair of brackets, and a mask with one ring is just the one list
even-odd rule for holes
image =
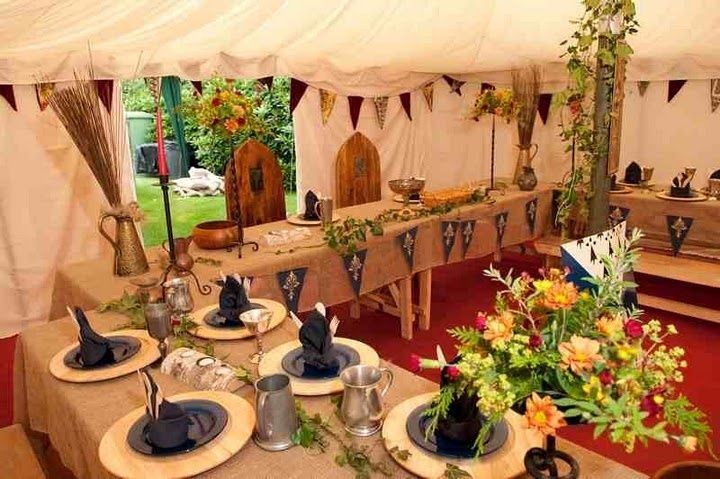
{"label": "round wooden charger directly behind the two pewter tankards", "polygon": [[[334,338],[333,342],[338,344],[344,344],[350,346],[360,355],[360,364],[367,364],[369,366],[380,366],[380,356],[378,353],[365,343],[355,341],[354,339],[348,338]],[[282,367],[282,359],[287,353],[295,348],[301,347],[299,340],[289,341],[287,343],[276,346],[269,352],[265,353],[258,365],[258,374],[260,376],[267,376],[269,374],[287,374]],[[342,381],[340,378],[331,379],[303,379],[295,376],[290,377],[290,386],[292,387],[293,394],[298,396],[324,396],[326,394],[333,394],[343,390]]]}

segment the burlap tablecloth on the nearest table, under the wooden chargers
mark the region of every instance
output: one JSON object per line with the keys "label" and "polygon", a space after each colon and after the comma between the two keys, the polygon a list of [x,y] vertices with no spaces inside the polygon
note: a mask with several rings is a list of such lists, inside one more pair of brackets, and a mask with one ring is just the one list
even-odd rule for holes
{"label": "burlap tablecloth on the nearest table, under the wooden chargers", "polygon": [[[90,313],[90,320],[100,331],[109,331],[125,322],[113,313]],[[265,336],[267,348],[297,337],[297,329],[290,321]],[[25,364],[26,392],[30,425],[36,431],[49,434],[63,463],[79,479],[108,478],[111,476],[100,463],[98,447],[105,431],[129,411],[143,404],[143,394],[135,375],[92,384],[71,384],[53,378],[48,372],[50,359],[66,345],[76,340],[76,329],[69,318],[30,328],[20,336]],[[247,364],[254,350],[253,340],[216,343],[216,354],[227,356],[232,364]],[[409,372],[389,365],[395,374],[395,383],[387,395],[389,407],[414,395],[437,389],[437,385]],[[165,395],[189,391],[190,387],[170,376],[155,374]],[[253,391],[244,386],[238,392],[252,402]],[[330,418],[335,431],[342,427],[334,417],[334,405],[329,397],[302,398],[304,408],[314,414]],[[403,471],[385,451],[379,434],[357,439],[360,444],[372,446],[372,456],[384,459],[392,468],[392,477],[413,477]],[[583,477],[596,479],[634,479],[646,477],[618,463],[603,458],[567,441],[559,446],[572,454],[580,463]],[[335,464],[337,445],[330,441],[325,453],[309,453],[300,447],[271,453],[257,447],[252,441],[229,461],[200,477],[223,479],[247,478],[341,478],[354,477],[349,468]],[[378,476],[382,477],[382,476]]]}

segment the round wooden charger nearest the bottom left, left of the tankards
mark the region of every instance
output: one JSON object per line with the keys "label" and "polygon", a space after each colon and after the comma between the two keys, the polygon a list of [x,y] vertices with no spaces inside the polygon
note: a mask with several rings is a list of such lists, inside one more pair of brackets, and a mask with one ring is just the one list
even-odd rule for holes
{"label": "round wooden charger nearest the bottom left, left of the tankards", "polygon": [[100,462],[112,474],[132,478],[190,477],[217,467],[247,443],[255,427],[255,412],[245,399],[223,391],[193,391],[167,398],[170,401],[206,399],[220,404],[228,413],[225,429],[206,445],[189,452],[153,457],[136,452],[127,442],[130,427],[143,414],[141,406],[110,426],[98,449]]}

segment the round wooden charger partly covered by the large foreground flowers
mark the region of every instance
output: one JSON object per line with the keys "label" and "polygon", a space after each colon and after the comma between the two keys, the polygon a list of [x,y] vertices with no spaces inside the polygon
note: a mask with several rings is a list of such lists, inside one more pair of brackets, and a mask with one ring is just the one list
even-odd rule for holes
{"label": "round wooden charger partly covered by the large foreground flowers", "polygon": [[448,464],[461,468],[473,478],[520,477],[525,473],[525,452],[531,447],[542,447],[543,438],[540,433],[523,427],[521,416],[513,411],[505,415],[510,428],[507,441],[500,449],[482,458],[451,459],[416,446],[407,433],[407,418],[416,407],[429,403],[435,394],[421,394],[407,399],[395,406],[385,418],[382,429],[385,448],[390,451],[397,447],[410,452],[404,461],[391,454],[398,464],[413,474],[433,479],[443,477]]}

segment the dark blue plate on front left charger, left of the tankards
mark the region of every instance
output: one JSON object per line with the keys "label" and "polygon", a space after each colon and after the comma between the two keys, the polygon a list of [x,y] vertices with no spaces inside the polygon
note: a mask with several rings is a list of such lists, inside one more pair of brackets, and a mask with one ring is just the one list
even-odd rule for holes
{"label": "dark blue plate on front left charger, left of the tankards", "polygon": [[174,456],[185,454],[204,446],[215,439],[227,425],[227,411],[220,404],[204,399],[177,401],[190,417],[190,432],[185,444],[171,449],[155,447],[148,443],[146,435],[150,425],[150,416],[143,416],[130,426],[127,441],[131,448],[148,456]]}

